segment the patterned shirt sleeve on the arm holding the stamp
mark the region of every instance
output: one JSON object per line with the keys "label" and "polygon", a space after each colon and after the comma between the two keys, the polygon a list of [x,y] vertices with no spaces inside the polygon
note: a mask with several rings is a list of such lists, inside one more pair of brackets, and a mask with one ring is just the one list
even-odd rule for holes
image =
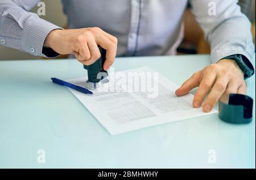
{"label": "patterned shirt sleeve on the arm holding the stamp", "polygon": [[59,54],[49,48],[46,51],[43,44],[49,32],[61,28],[26,11],[32,9],[37,2],[39,1],[1,0],[0,45],[34,56],[55,57]]}

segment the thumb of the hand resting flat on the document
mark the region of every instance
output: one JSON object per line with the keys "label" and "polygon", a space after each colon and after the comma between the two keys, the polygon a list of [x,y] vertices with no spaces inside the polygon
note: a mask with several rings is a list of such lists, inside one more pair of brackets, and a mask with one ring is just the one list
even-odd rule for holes
{"label": "thumb of the hand resting flat on the document", "polygon": [[183,85],[181,85],[179,89],[175,91],[175,94],[177,96],[185,95],[185,94],[188,94],[190,90],[199,86],[200,75],[201,75],[201,72],[197,72],[193,74],[189,79],[187,79],[187,81],[183,83]]}

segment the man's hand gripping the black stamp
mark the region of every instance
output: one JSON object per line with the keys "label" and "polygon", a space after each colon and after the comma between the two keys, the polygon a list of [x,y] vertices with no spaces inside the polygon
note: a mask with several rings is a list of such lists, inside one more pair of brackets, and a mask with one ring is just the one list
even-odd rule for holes
{"label": "man's hand gripping the black stamp", "polygon": [[53,30],[46,37],[44,46],[61,55],[73,54],[84,65],[93,64],[101,54],[98,45],[106,49],[104,69],[108,70],[117,54],[117,38],[98,27],[75,30]]}

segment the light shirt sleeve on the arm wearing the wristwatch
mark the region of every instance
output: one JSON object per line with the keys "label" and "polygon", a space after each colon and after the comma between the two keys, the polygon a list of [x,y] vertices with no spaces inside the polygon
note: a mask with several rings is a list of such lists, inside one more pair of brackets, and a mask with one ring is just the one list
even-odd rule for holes
{"label": "light shirt sleeve on the arm wearing the wristwatch", "polygon": [[237,0],[191,0],[192,13],[210,44],[212,63],[231,55],[254,55],[251,23]]}

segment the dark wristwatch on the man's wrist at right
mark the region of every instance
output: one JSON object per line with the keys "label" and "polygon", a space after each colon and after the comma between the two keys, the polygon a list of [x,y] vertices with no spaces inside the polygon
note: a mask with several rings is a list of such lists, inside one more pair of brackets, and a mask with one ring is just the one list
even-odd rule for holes
{"label": "dark wristwatch on the man's wrist at right", "polygon": [[232,55],[225,58],[233,59],[237,62],[237,65],[240,67],[244,73],[244,78],[247,79],[254,74],[254,68],[251,62],[243,55]]}

